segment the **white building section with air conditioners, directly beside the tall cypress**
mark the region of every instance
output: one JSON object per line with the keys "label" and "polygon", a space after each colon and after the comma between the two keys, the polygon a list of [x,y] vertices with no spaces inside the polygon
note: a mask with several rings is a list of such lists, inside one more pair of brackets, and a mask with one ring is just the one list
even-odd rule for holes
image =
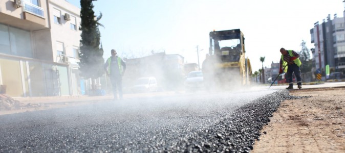
{"label": "white building section with air conditioners, directly beside the tall cypress", "polygon": [[66,76],[60,79],[60,82],[64,82],[64,86],[61,84],[61,94],[83,94],[86,82],[79,76],[77,63],[81,39],[80,9],[65,0],[49,0],[49,12],[52,61],[67,65],[67,69],[58,69],[60,75]]}

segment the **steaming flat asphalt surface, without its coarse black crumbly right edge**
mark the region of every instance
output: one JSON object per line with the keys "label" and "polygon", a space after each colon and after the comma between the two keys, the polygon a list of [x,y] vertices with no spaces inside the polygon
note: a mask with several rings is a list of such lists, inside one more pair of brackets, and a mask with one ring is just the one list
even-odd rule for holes
{"label": "steaming flat asphalt surface, without its coarse black crumbly right edge", "polygon": [[275,91],[198,92],[2,115],[0,152],[188,150],[190,137],[199,139],[236,109]]}

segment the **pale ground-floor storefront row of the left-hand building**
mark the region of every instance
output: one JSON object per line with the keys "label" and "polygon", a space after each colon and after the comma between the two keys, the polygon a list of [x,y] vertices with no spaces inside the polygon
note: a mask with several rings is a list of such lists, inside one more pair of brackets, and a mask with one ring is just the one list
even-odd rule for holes
{"label": "pale ground-floor storefront row of the left-hand building", "polygon": [[[69,96],[90,92],[91,79],[80,77],[77,67],[15,58],[0,58],[0,85],[12,97]],[[100,89],[108,91],[110,81],[105,76],[97,80]]]}

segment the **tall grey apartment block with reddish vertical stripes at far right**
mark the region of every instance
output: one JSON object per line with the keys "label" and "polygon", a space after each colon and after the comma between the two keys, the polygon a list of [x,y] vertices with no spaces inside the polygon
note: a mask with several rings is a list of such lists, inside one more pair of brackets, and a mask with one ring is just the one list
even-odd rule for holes
{"label": "tall grey apartment block with reddish vertical stripes at far right", "polygon": [[331,71],[345,72],[344,24],[345,18],[337,17],[337,14],[334,14],[333,20],[328,15],[322,23],[314,23],[310,34],[311,43],[314,43],[312,54],[316,69],[325,71],[325,66],[329,65]]}

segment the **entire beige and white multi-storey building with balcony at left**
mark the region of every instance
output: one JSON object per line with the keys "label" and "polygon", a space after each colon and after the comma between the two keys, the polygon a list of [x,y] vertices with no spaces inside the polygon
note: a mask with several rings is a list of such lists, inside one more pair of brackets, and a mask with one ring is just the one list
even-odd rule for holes
{"label": "entire beige and white multi-storey building with balcony at left", "polygon": [[0,85],[10,96],[78,95],[80,9],[64,0],[0,3]]}

